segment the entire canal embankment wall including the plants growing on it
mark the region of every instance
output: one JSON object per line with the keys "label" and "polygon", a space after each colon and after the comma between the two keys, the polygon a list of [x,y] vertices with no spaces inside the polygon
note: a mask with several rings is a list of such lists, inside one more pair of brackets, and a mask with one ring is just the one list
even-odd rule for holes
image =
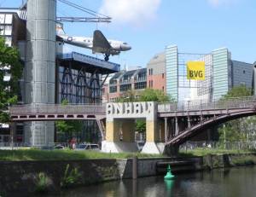
{"label": "entire canal embankment wall including the plants growing on it", "polygon": [[136,168],[128,159],[23,160],[0,161],[0,196],[27,196],[35,192],[60,192],[77,187],[134,177],[174,174],[237,165],[256,164],[256,154],[208,154],[183,158],[137,158]]}

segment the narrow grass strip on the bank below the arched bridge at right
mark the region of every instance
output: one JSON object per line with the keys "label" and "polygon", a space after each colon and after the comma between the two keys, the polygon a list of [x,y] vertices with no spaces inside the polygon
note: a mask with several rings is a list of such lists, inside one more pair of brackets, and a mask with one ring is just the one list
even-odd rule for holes
{"label": "narrow grass strip on the bank below the arched bridge at right", "polygon": [[194,150],[180,151],[181,156],[205,156],[207,154],[255,154],[254,150],[226,150],[226,149],[207,149],[196,148]]}

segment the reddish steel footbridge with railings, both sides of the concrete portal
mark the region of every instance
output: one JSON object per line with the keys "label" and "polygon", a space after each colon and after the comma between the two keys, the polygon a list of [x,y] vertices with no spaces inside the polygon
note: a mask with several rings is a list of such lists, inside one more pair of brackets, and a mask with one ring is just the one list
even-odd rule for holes
{"label": "reddish steel footbridge with railings, both sides of the concrete portal", "polygon": [[[158,119],[165,123],[165,144],[179,145],[212,125],[256,114],[256,96],[225,101],[183,101],[158,104]],[[95,119],[104,136],[105,105],[23,105],[9,107],[11,121]]]}

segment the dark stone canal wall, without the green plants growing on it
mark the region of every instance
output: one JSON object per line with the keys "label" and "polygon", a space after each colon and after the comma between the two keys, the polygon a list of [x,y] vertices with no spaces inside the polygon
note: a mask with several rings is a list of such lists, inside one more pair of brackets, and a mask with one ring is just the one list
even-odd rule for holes
{"label": "dark stone canal wall, without the green plants growing on it", "polygon": [[[137,159],[137,177],[156,176],[160,173],[157,169],[158,162],[186,160],[191,165],[182,167],[179,172],[193,169],[223,168],[233,165],[256,164],[255,154],[218,154],[195,158],[150,158]],[[49,177],[49,191],[60,191],[60,183],[65,170],[78,169],[81,177],[76,185],[101,183],[104,181],[119,180],[132,177],[132,159],[88,159],[73,161],[1,161],[0,162],[0,196],[27,196],[33,193],[37,184],[38,173],[44,172]],[[177,165],[179,166],[179,165]],[[175,166],[174,166],[175,167]],[[163,171],[165,172],[165,171]],[[5,195],[4,195],[5,196]]]}

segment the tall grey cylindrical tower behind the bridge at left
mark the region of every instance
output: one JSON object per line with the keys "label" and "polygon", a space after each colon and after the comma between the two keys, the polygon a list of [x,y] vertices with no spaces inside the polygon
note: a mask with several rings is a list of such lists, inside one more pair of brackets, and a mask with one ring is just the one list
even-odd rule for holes
{"label": "tall grey cylindrical tower behind the bridge at left", "polygon": [[[25,102],[55,103],[56,0],[27,0]],[[54,142],[54,122],[27,122],[25,142]]]}

